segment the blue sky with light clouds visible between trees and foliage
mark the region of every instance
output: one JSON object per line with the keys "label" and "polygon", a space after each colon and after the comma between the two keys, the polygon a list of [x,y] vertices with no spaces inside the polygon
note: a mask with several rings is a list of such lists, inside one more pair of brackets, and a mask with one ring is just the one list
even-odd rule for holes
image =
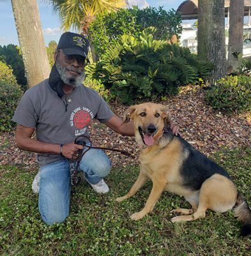
{"label": "blue sky with light clouds visible between trees and foliage", "polygon": [[[139,5],[141,8],[146,6],[164,6],[165,10],[170,10],[171,8],[176,10],[183,1],[184,0],[129,0],[129,4]],[[57,13],[52,12],[52,7],[47,4],[46,0],[38,0],[37,2],[45,44],[48,45],[51,40],[58,42],[63,31],[60,30],[61,23]],[[17,37],[17,29],[15,28],[11,1],[0,0],[0,45],[8,44],[19,45],[19,40]]]}

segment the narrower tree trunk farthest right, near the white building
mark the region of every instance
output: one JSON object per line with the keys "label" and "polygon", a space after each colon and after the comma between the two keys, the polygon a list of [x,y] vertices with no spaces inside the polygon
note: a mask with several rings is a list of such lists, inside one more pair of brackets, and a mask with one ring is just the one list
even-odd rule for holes
{"label": "narrower tree trunk farthest right, near the white building", "polygon": [[[240,67],[240,61],[234,58],[243,52],[243,19],[244,0],[230,0],[229,6],[229,47],[228,67],[236,72]],[[236,54],[232,54],[236,52]]]}

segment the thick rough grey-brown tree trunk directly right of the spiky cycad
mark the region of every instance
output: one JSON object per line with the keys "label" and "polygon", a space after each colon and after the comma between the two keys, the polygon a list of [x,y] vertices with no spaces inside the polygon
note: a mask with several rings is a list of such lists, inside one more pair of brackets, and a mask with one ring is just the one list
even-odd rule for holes
{"label": "thick rough grey-brown tree trunk directly right of the spiky cycad", "polygon": [[224,0],[199,0],[198,5],[198,56],[215,65],[208,81],[211,86],[227,75]]}

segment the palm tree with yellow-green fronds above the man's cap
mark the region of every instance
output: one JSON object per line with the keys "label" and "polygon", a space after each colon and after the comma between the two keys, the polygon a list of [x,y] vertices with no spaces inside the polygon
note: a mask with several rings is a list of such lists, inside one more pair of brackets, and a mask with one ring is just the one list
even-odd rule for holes
{"label": "palm tree with yellow-green fronds above the man's cap", "polygon": [[[52,4],[54,11],[59,13],[62,22],[62,28],[68,31],[70,28],[76,29],[82,35],[88,35],[89,24],[95,16],[105,11],[118,10],[126,5],[125,0],[48,0]],[[91,44],[91,53],[93,61],[96,61],[96,55]]]}

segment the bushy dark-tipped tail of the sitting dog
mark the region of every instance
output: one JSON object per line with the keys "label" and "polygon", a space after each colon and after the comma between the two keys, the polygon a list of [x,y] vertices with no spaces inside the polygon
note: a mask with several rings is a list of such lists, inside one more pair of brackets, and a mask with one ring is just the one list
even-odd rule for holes
{"label": "bushy dark-tipped tail of the sitting dog", "polygon": [[243,198],[240,192],[238,192],[235,206],[234,216],[244,223],[241,228],[241,236],[248,236],[251,234],[251,211],[247,201]]}

